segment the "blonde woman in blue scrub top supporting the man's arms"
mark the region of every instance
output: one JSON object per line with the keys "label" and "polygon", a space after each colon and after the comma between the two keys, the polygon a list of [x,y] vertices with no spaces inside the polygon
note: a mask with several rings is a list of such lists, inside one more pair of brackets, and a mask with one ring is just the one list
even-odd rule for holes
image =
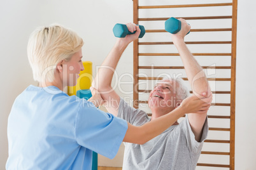
{"label": "blonde woman in blue scrub top supporting the man's arms", "polygon": [[[117,39],[114,48],[137,39],[139,27],[136,30]],[[94,104],[102,98],[96,91],[89,101],[68,96],[64,88],[75,86],[84,69],[82,46],[81,37],[60,25],[41,27],[31,34],[27,55],[39,86],[27,87],[13,103],[6,169],[91,169],[92,151],[113,159],[122,141],[143,144],[182,115],[206,112],[210,107],[192,96],[173,112],[136,127],[97,109]]]}

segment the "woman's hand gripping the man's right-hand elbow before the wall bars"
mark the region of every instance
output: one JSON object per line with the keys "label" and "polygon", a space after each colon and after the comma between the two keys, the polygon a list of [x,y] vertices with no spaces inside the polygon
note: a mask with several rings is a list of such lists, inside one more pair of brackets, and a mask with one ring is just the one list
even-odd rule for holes
{"label": "woman's hand gripping the man's right-hand elbow before the wall bars", "polygon": [[207,98],[198,98],[197,96],[193,95],[188,98],[185,98],[185,100],[181,102],[180,107],[184,110],[185,114],[205,114],[207,113],[209,107],[211,106],[212,100],[212,94]]}

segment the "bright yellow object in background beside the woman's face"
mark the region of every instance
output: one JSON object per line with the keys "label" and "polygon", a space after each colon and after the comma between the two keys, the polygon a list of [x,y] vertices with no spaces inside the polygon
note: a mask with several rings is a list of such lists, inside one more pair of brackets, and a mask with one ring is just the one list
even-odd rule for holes
{"label": "bright yellow object in background beside the woman's face", "polygon": [[90,89],[92,84],[92,62],[83,62],[85,68],[80,72],[76,86],[68,86],[68,95],[76,95],[76,91],[80,89]]}

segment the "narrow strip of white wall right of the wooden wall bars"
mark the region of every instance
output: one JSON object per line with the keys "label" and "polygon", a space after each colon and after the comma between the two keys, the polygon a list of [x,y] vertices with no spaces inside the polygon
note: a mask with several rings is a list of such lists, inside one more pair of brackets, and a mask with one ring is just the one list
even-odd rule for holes
{"label": "narrow strip of white wall right of the wooden wall bars", "polygon": [[236,169],[256,167],[256,133],[253,130],[256,122],[255,6],[255,1],[238,1]]}

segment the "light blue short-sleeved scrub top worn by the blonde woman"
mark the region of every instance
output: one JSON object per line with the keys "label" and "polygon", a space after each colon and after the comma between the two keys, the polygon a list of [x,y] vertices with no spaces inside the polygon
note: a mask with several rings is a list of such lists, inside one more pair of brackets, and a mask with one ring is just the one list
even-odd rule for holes
{"label": "light blue short-sleeved scrub top worn by the blonde woman", "polygon": [[29,86],[8,118],[6,169],[91,169],[92,150],[113,159],[127,122],[55,86]]}

